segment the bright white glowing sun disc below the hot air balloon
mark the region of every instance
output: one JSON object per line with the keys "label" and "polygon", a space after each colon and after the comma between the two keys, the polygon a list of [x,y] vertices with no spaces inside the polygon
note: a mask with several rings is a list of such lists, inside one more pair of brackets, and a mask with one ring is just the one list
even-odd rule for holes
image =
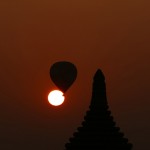
{"label": "bright white glowing sun disc below the hot air balloon", "polygon": [[59,90],[53,90],[48,95],[48,101],[53,106],[61,105],[65,100],[64,93]]}

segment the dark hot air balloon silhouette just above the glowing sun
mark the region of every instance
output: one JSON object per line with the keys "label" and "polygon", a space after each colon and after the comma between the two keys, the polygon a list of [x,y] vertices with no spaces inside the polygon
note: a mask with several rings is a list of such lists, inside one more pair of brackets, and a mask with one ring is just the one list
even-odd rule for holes
{"label": "dark hot air balloon silhouette just above the glowing sun", "polygon": [[56,62],[50,68],[50,77],[54,84],[65,93],[76,80],[77,69],[70,62]]}

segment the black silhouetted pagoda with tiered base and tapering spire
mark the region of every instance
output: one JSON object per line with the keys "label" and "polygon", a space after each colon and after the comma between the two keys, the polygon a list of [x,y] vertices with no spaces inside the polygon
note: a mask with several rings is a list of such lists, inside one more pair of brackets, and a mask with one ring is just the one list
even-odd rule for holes
{"label": "black silhouetted pagoda with tiered base and tapering spire", "polygon": [[132,144],[116,127],[108,108],[105,77],[99,69],[94,76],[89,110],[65,150],[131,150]]}

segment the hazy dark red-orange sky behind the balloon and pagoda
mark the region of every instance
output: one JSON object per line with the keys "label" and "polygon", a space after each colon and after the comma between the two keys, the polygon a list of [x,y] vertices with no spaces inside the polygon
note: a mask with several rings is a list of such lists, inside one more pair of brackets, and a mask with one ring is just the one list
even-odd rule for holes
{"label": "hazy dark red-orange sky behind the balloon and pagoda", "polygon": [[[98,68],[117,125],[134,150],[150,149],[149,8],[149,0],[0,1],[0,149],[64,149]],[[49,68],[60,60],[78,78],[53,108]]]}

